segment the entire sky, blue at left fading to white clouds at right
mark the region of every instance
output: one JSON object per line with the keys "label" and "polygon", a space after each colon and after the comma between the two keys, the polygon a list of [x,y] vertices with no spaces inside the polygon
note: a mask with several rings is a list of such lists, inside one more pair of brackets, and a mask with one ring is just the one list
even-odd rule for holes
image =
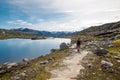
{"label": "entire sky, blue at left fading to white clouds at right", "polygon": [[120,0],[0,0],[0,28],[80,31],[120,20]]}

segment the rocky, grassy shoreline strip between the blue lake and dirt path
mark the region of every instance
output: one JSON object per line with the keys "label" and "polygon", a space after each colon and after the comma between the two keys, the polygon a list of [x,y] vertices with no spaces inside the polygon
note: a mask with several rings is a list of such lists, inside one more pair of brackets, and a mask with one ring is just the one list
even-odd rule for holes
{"label": "rocky, grassy shoreline strip between the blue lake and dirt path", "polygon": [[[59,67],[57,64],[68,56],[65,43],[60,49],[52,49],[50,54],[35,59],[24,58],[21,62],[8,62],[0,65],[0,80],[45,80],[50,77],[48,69]],[[46,69],[48,68],[48,69]]]}

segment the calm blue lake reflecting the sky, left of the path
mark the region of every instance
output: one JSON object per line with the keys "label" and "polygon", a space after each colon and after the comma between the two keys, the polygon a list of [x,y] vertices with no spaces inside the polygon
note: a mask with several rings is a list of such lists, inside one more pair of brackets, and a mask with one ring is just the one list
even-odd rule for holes
{"label": "calm blue lake reflecting the sky, left of the path", "polygon": [[49,38],[41,40],[6,39],[0,40],[0,64],[5,62],[19,62],[23,58],[33,59],[58,49],[62,43],[70,43],[70,39]]}

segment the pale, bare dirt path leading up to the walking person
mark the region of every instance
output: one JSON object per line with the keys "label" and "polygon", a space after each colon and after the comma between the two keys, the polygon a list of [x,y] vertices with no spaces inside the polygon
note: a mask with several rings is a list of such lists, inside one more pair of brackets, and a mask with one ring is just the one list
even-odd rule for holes
{"label": "pale, bare dirt path leading up to the walking person", "polygon": [[62,61],[65,66],[50,71],[52,77],[48,80],[76,80],[74,77],[79,74],[80,69],[84,68],[81,66],[80,61],[87,55],[88,51],[83,50],[81,53],[76,53],[75,49],[73,49],[71,52],[71,55]]}

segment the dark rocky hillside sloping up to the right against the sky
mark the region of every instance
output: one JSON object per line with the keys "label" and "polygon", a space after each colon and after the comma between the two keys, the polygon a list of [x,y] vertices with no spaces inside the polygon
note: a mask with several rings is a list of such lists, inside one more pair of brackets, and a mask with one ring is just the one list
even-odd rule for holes
{"label": "dark rocky hillside sloping up to the right against the sky", "polygon": [[94,36],[99,38],[112,38],[120,35],[120,21],[92,26],[77,32],[74,36]]}

